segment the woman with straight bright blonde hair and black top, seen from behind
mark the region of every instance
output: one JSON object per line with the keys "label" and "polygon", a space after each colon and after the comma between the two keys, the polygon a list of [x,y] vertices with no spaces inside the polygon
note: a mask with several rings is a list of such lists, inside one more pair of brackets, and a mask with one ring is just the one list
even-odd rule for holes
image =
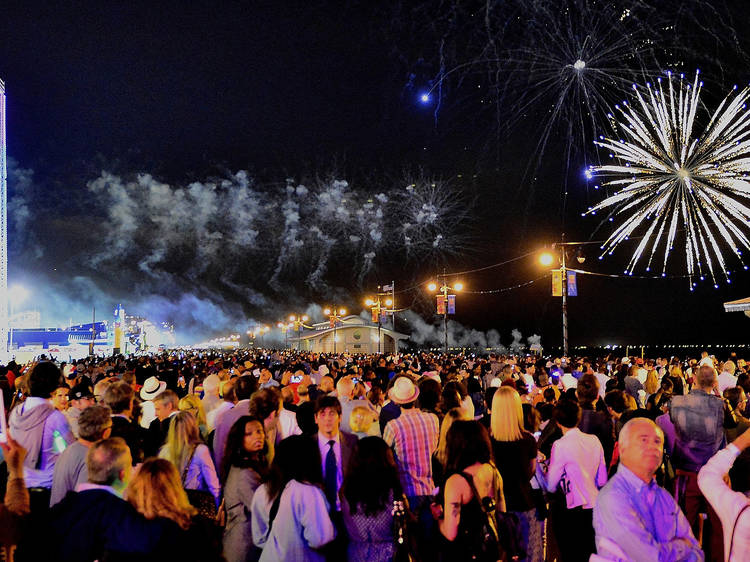
{"label": "woman with straight bright blonde hair and black top, seen from behind", "polygon": [[536,516],[531,490],[536,470],[536,439],[523,428],[523,404],[513,387],[501,386],[492,397],[490,442],[495,464],[503,477],[507,510],[521,522],[527,560],[541,562],[544,523]]}

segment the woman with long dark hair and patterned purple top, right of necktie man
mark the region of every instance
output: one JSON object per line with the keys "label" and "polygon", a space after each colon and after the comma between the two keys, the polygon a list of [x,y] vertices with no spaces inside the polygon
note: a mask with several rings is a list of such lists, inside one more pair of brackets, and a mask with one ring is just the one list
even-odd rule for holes
{"label": "woman with long dark hair and patterned purple top, right of necktie man", "polygon": [[386,562],[393,557],[393,501],[403,492],[393,451],[380,437],[357,442],[341,486],[349,535],[347,560]]}

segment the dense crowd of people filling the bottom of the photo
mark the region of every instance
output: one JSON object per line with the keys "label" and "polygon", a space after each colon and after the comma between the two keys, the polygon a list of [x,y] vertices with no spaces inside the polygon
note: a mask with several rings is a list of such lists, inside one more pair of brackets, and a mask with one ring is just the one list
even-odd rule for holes
{"label": "dense crowd of people filling the bottom of the photo", "polygon": [[0,369],[16,560],[750,558],[750,364],[292,350]]}

